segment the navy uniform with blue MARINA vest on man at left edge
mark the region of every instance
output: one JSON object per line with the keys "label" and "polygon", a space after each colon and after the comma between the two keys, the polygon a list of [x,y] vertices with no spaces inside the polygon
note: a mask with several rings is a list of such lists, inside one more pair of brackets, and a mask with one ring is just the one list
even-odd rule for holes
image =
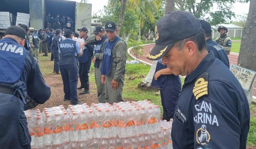
{"label": "navy uniform with blue MARINA vest on man at left edge", "polygon": [[0,40],[0,49],[0,148],[30,149],[31,136],[23,112],[26,97],[43,104],[50,98],[50,87],[35,58],[16,40]]}

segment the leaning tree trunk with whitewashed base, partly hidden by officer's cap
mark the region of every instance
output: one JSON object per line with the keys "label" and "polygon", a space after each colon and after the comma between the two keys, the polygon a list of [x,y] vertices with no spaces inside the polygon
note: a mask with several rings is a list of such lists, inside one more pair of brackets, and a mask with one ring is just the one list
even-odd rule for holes
{"label": "leaning tree trunk with whitewashed base, partly hidden by officer's cap", "polygon": [[[164,11],[164,16],[167,15],[170,11],[173,11],[174,8],[174,0],[166,0],[165,2],[165,11]],[[147,39],[147,38],[146,38]],[[150,71],[148,72],[148,75],[144,80],[138,85],[138,87],[150,87],[152,78],[154,76],[154,73],[156,71],[156,64],[157,61],[153,61],[152,66],[150,68]]]}

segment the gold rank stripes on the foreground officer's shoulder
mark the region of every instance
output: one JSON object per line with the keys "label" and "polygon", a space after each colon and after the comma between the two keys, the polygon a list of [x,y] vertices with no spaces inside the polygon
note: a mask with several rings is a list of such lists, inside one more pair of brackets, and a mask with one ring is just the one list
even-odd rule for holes
{"label": "gold rank stripes on the foreground officer's shoulder", "polygon": [[208,81],[205,81],[204,78],[199,78],[195,82],[195,86],[193,88],[193,94],[196,100],[198,100],[198,98],[204,95],[208,95]]}

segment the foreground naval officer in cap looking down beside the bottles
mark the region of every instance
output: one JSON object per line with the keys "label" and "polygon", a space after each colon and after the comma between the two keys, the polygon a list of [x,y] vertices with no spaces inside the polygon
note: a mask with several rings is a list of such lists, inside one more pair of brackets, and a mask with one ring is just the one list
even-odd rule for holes
{"label": "foreground naval officer in cap looking down beside the bottles", "polygon": [[172,11],[156,24],[156,45],[147,55],[162,58],[174,75],[186,76],[171,138],[174,149],[245,149],[250,110],[241,84],[213,52],[195,16]]}

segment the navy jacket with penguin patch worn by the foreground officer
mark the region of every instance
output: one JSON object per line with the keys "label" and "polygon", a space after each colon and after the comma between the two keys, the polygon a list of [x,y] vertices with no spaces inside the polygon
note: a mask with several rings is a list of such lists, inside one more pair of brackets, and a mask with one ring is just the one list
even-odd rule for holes
{"label": "navy jacket with penguin patch worn by the foreground officer", "polygon": [[174,114],[173,149],[245,149],[249,123],[243,88],[210,51],[185,78]]}

